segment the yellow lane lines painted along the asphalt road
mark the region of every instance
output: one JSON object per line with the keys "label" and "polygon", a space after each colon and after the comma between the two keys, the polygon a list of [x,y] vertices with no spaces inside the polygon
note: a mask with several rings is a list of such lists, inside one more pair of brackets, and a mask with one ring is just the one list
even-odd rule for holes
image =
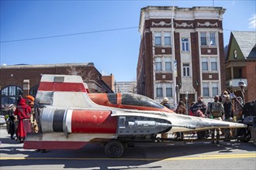
{"label": "yellow lane lines painted along the asphalt road", "polygon": [[177,160],[200,160],[200,159],[220,159],[220,158],[256,158],[255,153],[234,154],[234,155],[199,155],[199,157],[181,158],[29,158],[29,157],[5,157],[0,160],[111,160],[111,161],[177,161]]}

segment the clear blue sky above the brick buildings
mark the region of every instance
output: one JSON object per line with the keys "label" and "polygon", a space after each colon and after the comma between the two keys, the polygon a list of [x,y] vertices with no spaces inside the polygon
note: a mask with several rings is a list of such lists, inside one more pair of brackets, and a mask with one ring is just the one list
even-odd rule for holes
{"label": "clear blue sky above the brick buildings", "polygon": [[[227,8],[223,15],[225,45],[230,30],[255,31],[255,0],[1,0],[0,64],[95,63],[97,70],[112,73],[116,81],[136,80],[140,8],[213,4]],[[49,36],[53,37],[37,39]]]}

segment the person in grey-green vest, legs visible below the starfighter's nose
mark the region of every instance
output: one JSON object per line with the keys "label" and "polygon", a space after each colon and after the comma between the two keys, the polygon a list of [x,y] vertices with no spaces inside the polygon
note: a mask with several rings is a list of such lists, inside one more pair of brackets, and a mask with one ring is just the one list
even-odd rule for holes
{"label": "person in grey-green vest, legs visible below the starfighter's nose", "polygon": [[[220,97],[216,95],[214,97],[214,102],[209,105],[209,114],[213,117],[215,120],[222,121],[222,117],[224,114],[224,107],[223,104],[219,102]],[[215,130],[216,130],[216,144],[220,144],[220,128],[212,129],[211,130],[211,136],[212,136],[212,144],[214,144],[214,136],[215,136]]]}

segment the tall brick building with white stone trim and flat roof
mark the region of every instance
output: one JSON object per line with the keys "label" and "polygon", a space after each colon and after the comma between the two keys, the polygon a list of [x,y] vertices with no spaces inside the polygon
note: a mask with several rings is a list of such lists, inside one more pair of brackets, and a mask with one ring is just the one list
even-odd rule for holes
{"label": "tall brick building with white stone trim and flat roof", "polygon": [[172,104],[185,100],[186,94],[189,103],[199,95],[209,102],[220,94],[225,88],[225,11],[221,7],[141,8],[137,93],[159,102],[168,97]]}

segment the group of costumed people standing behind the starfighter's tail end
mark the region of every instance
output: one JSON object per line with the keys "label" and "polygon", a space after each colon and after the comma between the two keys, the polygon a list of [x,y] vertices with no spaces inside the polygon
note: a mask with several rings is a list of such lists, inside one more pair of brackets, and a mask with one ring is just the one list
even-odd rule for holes
{"label": "group of costumed people standing behind the starfighter's tail end", "polygon": [[[35,98],[31,95],[26,96],[26,98],[20,96],[17,106],[15,104],[9,105],[6,129],[8,134],[11,135],[11,140],[23,143],[28,133],[38,133],[38,119],[35,115],[34,101]],[[16,135],[16,138],[14,138],[14,135]],[[48,152],[46,149],[36,151]]]}

